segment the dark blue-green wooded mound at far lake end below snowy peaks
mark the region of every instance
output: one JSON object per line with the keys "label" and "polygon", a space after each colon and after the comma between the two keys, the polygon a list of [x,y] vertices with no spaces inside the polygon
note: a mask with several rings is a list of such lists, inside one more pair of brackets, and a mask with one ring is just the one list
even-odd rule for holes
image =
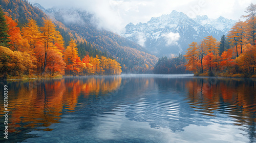
{"label": "dark blue-green wooded mound at far lake end below snowy peaks", "polygon": [[186,70],[186,59],[180,54],[174,58],[162,57],[158,60],[154,67],[154,74],[191,74]]}

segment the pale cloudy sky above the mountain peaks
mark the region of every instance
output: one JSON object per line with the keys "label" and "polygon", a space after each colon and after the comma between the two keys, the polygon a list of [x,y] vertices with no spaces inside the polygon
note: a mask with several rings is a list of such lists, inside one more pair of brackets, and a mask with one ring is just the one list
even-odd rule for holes
{"label": "pale cloudy sky above the mountain peaks", "polygon": [[79,8],[95,14],[99,26],[120,33],[130,22],[135,25],[147,22],[152,17],[169,14],[173,10],[191,18],[207,15],[209,18],[223,16],[238,20],[246,7],[255,0],[28,0],[45,8]]}

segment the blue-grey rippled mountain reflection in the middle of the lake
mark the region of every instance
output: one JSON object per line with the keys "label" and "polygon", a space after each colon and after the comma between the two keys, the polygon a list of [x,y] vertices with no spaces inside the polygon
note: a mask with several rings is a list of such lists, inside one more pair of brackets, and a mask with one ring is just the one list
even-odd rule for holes
{"label": "blue-grey rippled mountain reflection in the middle of the lake", "polygon": [[[123,80],[125,80],[123,78]],[[184,131],[183,128],[190,124],[207,125],[205,122],[193,123],[195,111],[184,102],[186,95],[185,83],[189,78],[139,78],[138,85],[149,84],[140,92],[140,97],[136,97],[134,102],[129,103],[129,107],[124,110],[126,117],[131,121],[147,122],[152,128],[168,128],[174,132]],[[134,83],[133,81],[131,81]],[[134,88],[134,84],[126,85],[126,89]],[[143,95],[143,96],[142,96]],[[131,98],[131,97],[130,97]],[[127,103],[126,103],[127,104]],[[190,117],[191,116],[191,117]]]}

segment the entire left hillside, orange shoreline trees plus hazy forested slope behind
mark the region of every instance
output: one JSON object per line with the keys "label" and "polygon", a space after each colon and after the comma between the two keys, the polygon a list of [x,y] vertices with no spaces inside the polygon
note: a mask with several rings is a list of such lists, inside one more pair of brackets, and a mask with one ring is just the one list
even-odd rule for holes
{"label": "entire left hillside, orange shoreline trees plus hazy forested slope behind", "polygon": [[[0,2],[0,7],[3,10],[6,22],[11,21],[13,23],[13,25],[9,26],[8,30],[6,30],[6,33],[9,35],[7,39],[9,39],[10,41],[6,41],[7,45],[4,45],[3,43],[3,46],[8,47],[12,51],[23,53],[26,52],[30,56],[34,57],[32,63],[36,66],[33,66],[33,68],[25,66],[26,68],[31,68],[31,71],[33,70],[29,74],[24,73],[23,71],[18,71],[20,73],[15,74],[16,71],[11,72],[11,70],[13,69],[8,68],[8,72],[10,71],[12,73],[9,74],[9,76],[11,77],[22,75],[41,76],[58,74],[109,75],[114,73],[120,74],[121,70],[123,71],[123,73],[133,74],[152,73],[152,70],[154,68],[153,66],[157,61],[157,58],[148,54],[145,49],[143,49],[143,47],[129,40],[126,40],[125,38],[122,38],[117,34],[105,30],[98,30],[92,27],[92,24],[89,23],[89,21],[86,21],[86,17],[84,17],[84,20],[88,23],[88,25],[85,25],[85,29],[83,29],[81,25],[75,25],[74,23],[73,25],[70,25],[68,23],[65,23],[65,21],[61,21],[61,17],[55,18],[53,17],[53,15],[46,14],[39,8],[29,4],[28,1],[5,0]],[[44,39],[44,36],[46,35],[44,35],[45,33],[43,30],[46,26],[47,20],[48,22],[50,22],[48,24],[53,27],[53,31],[55,31],[53,33],[57,33],[55,37],[51,35],[51,33],[49,33],[49,35],[53,37],[47,39],[48,42],[46,41],[46,39]],[[33,30],[39,33],[35,33],[35,31],[30,28],[31,26],[34,27]],[[8,33],[8,31],[11,31],[10,29],[12,28],[16,29],[17,31],[15,33]],[[29,29],[32,31],[28,32]],[[28,36],[30,34],[35,35]],[[44,39],[45,41],[42,39]],[[68,60],[72,63],[72,66],[69,66],[67,60],[65,61],[65,51],[67,51],[67,48],[70,46],[70,42],[72,41],[72,39],[76,44],[75,50],[77,51],[77,56],[79,57],[80,61],[78,60],[78,58],[76,61],[74,60],[74,58],[72,58],[73,61]],[[45,43],[46,45],[44,45]],[[49,45],[47,45],[47,43]],[[39,51],[37,49],[39,47],[39,44],[41,44],[41,48],[45,47],[45,49]],[[2,49],[2,51],[6,50],[7,49]],[[55,53],[53,51],[55,51]],[[51,59],[51,57],[49,57],[52,56],[52,54],[57,54],[58,57],[62,57],[63,62],[59,62],[58,64],[52,62],[51,60],[58,61],[57,59]],[[88,57],[90,57],[89,60],[84,60],[84,58],[88,59]],[[94,69],[94,67],[97,65],[94,65],[96,64],[96,62],[92,64],[93,60],[98,61],[99,63],[97,63],[97,65],[101,66],[100,68],[97,67],[97,70]],[[83,64],[83,61],[87,61],[90,64]],[[74,62],[80,62],[80,64],[77,65],[78,68],[73,67],[74,65],[76,65],[73,64]],[[101,62],[103,62],[104,64],[109,64],[108,66],[103,66]],[[66,65],[64,65],[63,63],[65,63]],[[110,63],[112,63],[112,65]],[[7,64],[4,65],[6,66]],[[118,68],[121,67],[121,69],[115,69],[114,71],[114,69],[110,69],[114,68],[113,66],[116,66]],[[56,67],[65,67],[65,69],[58,69]],[[68,71],[67,67],[70,67],[72,69]],[[36,68],[36,70],[34,68]],[[1,70],[1,72],[1,74],[6,74],[7,71]]]}

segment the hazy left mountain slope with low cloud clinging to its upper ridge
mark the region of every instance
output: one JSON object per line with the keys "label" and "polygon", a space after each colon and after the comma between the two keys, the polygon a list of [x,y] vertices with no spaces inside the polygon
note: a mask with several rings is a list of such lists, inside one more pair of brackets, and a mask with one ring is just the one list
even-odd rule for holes
{"label": "hazy left mountain slope with low cloud clinging to its upper ridge", "polygon": [[114,57],[121,64],[123,73],[148,73],[157,62],[157,57],[148,54],[139,44],[113,32],[97,28],[97,19],[87,11],[73,8],[45,9],[39,4],[34,6],[46,12],[51,19],[63,23],[72,35],[79,34],[98,50]]}

